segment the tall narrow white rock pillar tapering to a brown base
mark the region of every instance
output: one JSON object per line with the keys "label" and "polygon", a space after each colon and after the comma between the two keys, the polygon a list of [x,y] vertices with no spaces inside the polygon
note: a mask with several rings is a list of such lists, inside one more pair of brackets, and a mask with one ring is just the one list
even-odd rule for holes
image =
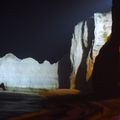
{"label": "tall narrow white rock pillar tapering to a brown base", "polygon": [[71,43],[71,50],[70,50],[70,60],[72,64],[72,73],[70,76],[71,79],[71,88],[75,88],[75,79],[76,79],[76,74],[79,68],[79,65],[82,60],[82,25],[83,23],[79,23],[77,26],[75,26],[73,38],[72,38],[72,43]]}

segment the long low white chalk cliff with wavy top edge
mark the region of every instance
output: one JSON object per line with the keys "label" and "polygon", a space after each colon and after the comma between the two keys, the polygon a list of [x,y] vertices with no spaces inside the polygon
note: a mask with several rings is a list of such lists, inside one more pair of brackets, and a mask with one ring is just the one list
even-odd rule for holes
{"label": "long low white chalk cliff with wavy top edge", "polygon": [[58,63],[38,63],[33,58],[19,59],[9,53],[0,58],[0,83],[6,88],[58,88]]}

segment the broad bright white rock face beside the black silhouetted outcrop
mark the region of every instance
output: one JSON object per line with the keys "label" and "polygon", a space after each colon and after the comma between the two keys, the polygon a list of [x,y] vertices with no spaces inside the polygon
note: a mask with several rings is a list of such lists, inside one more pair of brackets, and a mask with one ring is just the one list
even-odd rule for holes
{"label": "broad bright white rock face beside the black silhouetted outcrop", "polygon": [[95,13],[95,40],[93,47],[93,55],[96,57],[101,47],[107,42],[107,38],[111,34],[112,27],[112,14],[108,13]]}

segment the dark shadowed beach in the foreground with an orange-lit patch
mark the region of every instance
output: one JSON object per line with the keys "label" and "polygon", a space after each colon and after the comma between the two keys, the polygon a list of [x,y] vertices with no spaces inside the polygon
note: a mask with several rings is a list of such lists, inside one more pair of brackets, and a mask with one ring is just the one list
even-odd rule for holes
{"label": "dark shadowed beach in the foreground with an orange-lit patch", "polygon": [[81,97],[76,90],[0,93],[0,120],[119,120],[120,98]]}

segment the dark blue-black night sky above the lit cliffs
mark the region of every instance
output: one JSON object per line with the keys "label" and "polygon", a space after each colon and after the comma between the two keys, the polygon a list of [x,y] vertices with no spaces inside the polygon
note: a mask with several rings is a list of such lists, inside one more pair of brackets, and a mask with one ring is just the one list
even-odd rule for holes
{"label": "dark blue-black night sky above the lit cliffs", "polygon": [[111,0],[0,1],[0,56],[56,62],[69,53],[74,26],[108,9]]}

